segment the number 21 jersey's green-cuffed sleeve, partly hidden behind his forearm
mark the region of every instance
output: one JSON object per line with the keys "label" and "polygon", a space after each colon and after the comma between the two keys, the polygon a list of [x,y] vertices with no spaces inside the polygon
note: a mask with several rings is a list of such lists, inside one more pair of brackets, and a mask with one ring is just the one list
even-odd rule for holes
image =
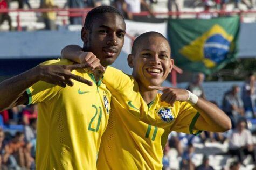
{"label": "number 21 jersey's green-cuffed sleeve, partly hidden behind his forearm", "polygon": [[[41,65],[57,65],[57,64],[68,64],[68,60],[65,59],[57,59],[57,60],[49,60],[46,62],[41,63]],[[49,101],[51,98],[56,96],[62,87],[46,83],[44,81],[38,81],[37,83],[33,84],[26,90],[27,95],[29,96],[30,104],[41,103],[44,101]]]}

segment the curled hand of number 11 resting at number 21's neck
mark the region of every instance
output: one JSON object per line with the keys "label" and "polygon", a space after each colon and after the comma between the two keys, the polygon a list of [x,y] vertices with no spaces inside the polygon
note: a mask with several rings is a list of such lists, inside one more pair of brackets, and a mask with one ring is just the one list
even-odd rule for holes
{"label": "curled hand of number 11 resting at number 21's neck", "polygon": [[105,72],[105,67],[100,64],[100,60],[94,55],[92,52],[82,52],[79,55],[79,60],[81,63],[87,63],[91,65],[91,67],[86,68],[86,72],[93,73],[95,70],[100,70],[101,72]]}

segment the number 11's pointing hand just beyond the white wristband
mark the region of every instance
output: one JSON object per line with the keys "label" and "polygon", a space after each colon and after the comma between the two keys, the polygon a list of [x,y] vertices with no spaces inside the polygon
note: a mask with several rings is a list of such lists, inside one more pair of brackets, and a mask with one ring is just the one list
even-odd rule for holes
{"label": "number 11's pointing hand just beyond the white wristband", "polygon": [[177,89],[171,87],[162,87],[162,86],[149,86],[150,89],[160,90],[163,92],[161,96],[161,101],[174,105],[175,101],[188,101],[189,93],[184,89]]}

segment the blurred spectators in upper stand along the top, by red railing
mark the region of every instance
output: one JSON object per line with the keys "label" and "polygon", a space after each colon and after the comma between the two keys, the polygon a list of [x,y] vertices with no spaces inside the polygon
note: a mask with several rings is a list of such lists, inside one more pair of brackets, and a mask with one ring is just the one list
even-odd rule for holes
{"label": "blurred spectators in upper stand along the top, by red railing", "polygon": [[[1,0],[0,10],[3,12],[0,14],[0,25],[5,22],[3,30],[17,30],[17,9],[19,11],[25,9],[26,12],[21,15],[34,23],[33,25],[27,24],[23,29],[56,30],[58,25],[82,23],[81,16],[83,14],[80,11],[68,11],[68,9],[93,8],[100,5],[115,6],[129,20],[155,21],[159,18],[169,17],[168,15],[157,15],[157,13],[177,12],[174,16],[179,18],[179,12],[254,10],[255,3],[253,0]],[[11,15],[8,11],[4,12],[8,9],[13,11]],[[63,10],[61,11],[61,9]],[[141,12],[146,12],[147,15],[139,15]],[[219,15],[211,13],[197,17],[211,18]],[[61,23],[64,20],[65,23]],[[35,24],[36,22],[41,24]]]}

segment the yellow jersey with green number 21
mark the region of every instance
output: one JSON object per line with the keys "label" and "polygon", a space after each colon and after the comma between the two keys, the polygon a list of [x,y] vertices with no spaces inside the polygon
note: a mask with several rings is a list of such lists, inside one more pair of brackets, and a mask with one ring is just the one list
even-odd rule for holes
{"label": "yellow jersey with green number 21", "polygon": [[[44,65],[68,65],[58,59]],[[29,89],[29,104],[38,104],[37,169],[96,169],[101,136],[106,130],[110,92],[105,84],[80,70],[73,74],[93,81],[93,86],[72,80],[62,88],[39,81]]]}

